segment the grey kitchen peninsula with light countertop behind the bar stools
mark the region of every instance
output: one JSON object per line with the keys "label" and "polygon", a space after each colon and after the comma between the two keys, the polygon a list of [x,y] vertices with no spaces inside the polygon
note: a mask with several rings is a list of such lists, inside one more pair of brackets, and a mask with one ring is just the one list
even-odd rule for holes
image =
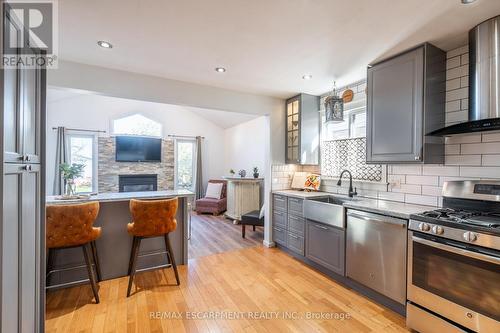
{"label": "grey kitchen peninsula with light countertop behind the bar stools", "polygon": [[[178,265],[187,263],[187,232],[188,232],[188,199],[194,196],[187,190],[148,191],[148,192],[119,192],[100,193],[89,198],[75,200],[61,200],[54,196],[47,197],[47,205],[66,205],[98,201],[99,215],[94,223],[102,227],[102,235],[97,239],[97,251],[103,279],[113,279],[127,276],[127,269],[132,247],[132,236],[127,233],[127,223],[132,222],[129,210],[131,199],[169,199],[179,198],[177,209],[177,229],[170,234],[174,258]],[[138,270],[165,265],[167,258],[163,238],[144,240],[139,252]],[[158,253],[160,252],[160,253]],[[161,253],[163,252],[163,253]],[[72,268],[76,267],[76,268]],[[69,248],[56,252],[54,268],[61,271],[54,272],[47,280],[49,287],[63,287],[78,282],[84,282],[87,271],[84,264],[81,248]]]}

